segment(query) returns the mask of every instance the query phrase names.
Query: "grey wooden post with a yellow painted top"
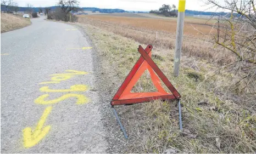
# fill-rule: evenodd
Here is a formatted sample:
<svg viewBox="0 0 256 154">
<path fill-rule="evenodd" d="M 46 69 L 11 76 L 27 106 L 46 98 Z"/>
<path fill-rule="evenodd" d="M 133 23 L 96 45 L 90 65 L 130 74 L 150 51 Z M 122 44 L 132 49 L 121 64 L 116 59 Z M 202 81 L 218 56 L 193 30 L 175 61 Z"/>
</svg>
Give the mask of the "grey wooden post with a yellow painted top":
<svg viewBox="0 0 256 154">
<path fill-rule="evenodd" d="M 180 56 L 182 48 L 182 37 L 183 37 L 183 27 L 184 27 L 184 18 L 185 18 L 185 4 L 186 0 L 179 1 L 178 9 L 178 19 L 177 19 L 177 31 L 176 31 L 176 45 L 175 45 L 175 54 L 174 54 L 174 76 L 179 76 L 180 68 Z"/>
</svg>

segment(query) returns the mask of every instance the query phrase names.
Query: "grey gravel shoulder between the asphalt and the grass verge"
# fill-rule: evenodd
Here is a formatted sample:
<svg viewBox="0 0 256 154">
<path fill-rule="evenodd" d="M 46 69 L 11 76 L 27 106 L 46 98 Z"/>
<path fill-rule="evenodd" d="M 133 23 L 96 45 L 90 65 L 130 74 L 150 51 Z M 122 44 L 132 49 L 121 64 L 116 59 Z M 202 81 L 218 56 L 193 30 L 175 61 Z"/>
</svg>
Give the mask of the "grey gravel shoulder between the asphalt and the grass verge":
<svg viewBox="0 0 256 154">
<path fill-rule="evenodd" d="M 127 151 L 127 144 L 129 144 L 130 141 L 129 139 L 125 139 L 124 134 L 115 119 L 113 107 L 110 105 L 110 101 L 115 94 L 114 90 L 120 86 L 120 78 L 116 76 L 114 69 L 110 69 L 108 61 L 104 59 L 102 53 L 99 52 L 100 49 L 97 47 L 97 44 L 94 44 L 91 41 L 88 36 L 88 29 L 79 24 L 75 25 L 82 31 L 82 33 L 84 33 L 84 37 L 86 37 L 93 47 L 93 72 L 95 74 L 94 82 L 96 83 L 96 87 L 94 87 L 93 90 L 98 92 L 99 102 L 101 103 L 99 110 L 102 114 L 102 123 L 105 129 L 104 138 L 109 145 L 107 153 L 124 153 Z M 119 111 L 118 109 L 116 110 Z"/>
</svg>

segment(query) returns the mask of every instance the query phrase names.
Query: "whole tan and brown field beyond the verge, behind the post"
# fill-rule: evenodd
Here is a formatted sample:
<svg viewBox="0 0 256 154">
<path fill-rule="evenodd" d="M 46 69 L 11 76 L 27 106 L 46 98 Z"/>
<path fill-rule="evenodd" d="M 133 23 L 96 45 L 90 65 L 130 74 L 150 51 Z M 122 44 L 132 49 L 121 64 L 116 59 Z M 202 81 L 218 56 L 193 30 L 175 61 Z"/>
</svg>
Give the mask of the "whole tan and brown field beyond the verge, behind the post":
<svg viewBox="0 0 256 154">
<path fill-rule="evenodd" d="M 175 33 L 161 30 L 162 28 L 166 28 L 167 30 L 168 26 L 165 27 L 165 26 L 162 26 L 161 24 L 155 24 L 154 27 L 159 28 L 160 30 L 158 31 L 158 38 L 156 38 L 156 31 L 152 30 L 153 28 L 151 28 L 151 24 L 148 24 L 148 22 L 154 22 L 154 21 L 159 21 L 160 23 L 167 22 L 169 24 L 172 24 L 172 28 L 169 27 L 169 31 L 176 32 L 176 24 L 172 23 L 172 22 L 176 23 L 176 21 L 164 20 L 164 19 L 150 19 L 150 18 L 141 18 L 141 19 L 127 18 L 127 17 L 119 17 L 119 16 L 117 17 L 112 16 L 111 18 L 106 18 L 105 16 L 101 20 L 99 20 L 98 18 L 102 18 L 102 16 L 97 17 L 95 15 L 95 16 L 87 17 L 85 15 L 82 15 L 82 16 L 79 16 L 78 21 L 81 24 L 90 24 L 90 25 L 102 28 L 104 30 L 114 32 L 118 35 L 121 35 L 127 38 L 132 38 L 135 41 L 143 44 L 152 44 L 154 45 L 154 47 L 166 48 L 166 49 L 175 48 Z M 121 20 L 120 18 L 123 20 Z M 121 20 L 119 22 L 122 22 L 122 24 L 119 24 L 118 19 Z M 112 20 L 113 22 L 110 22 Z M 140 22 L 137 22 L 137 21 L 140 21 Z M 197 20 L 195 20 L 194 22 L 196 21 Z M 131 24 L 129 24 L 129 22 L 131 22 Z M 156 23 L 159 23 L 159 22 L 156 22 Z M 201 22 L 201 20 L 198 20 L 198 22 Z M 132 25 L 137 25 L 137 26 L 132 26 Z M 148 28 L 143 27 L 143 25 L 147 25 Z M 190 25 L 190 26 L 187 26 L 190 32 L 185 33 L 185 36 L 183 37 L 183 47 L 182 47 L 183 55 L 207 59 L 210 62 L 217 62 L 220 65 L 229 64 L 231 61 L 234 60 L 234 57 L 230 55 L 229 52 L 218 50 L 216 48 L 213 49 L 212 44 L 205 42 L 205 40 L 209 39 L 209 35 L 202 35 L 197 30 L 194 30 L 193 27 L 195 26 L 192 27 L 191 24 L 188 24 L 188 25 Z M 199 24 L 198 26 L 205 28 L 205 32 L 212 30 L 210 26 L 205 26 L 202 24 Z"/>
</svg>

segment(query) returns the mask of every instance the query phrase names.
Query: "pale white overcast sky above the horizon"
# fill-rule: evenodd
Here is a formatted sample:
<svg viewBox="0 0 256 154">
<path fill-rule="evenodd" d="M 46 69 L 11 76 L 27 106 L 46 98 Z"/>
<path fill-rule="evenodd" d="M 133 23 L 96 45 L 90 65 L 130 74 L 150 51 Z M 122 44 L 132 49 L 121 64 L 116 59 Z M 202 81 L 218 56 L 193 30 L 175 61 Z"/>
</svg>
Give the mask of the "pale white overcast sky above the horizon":
<svg viewBox="0 0 256 154">
<path fill-rule="evenodd" d="M 18 2 L 19 6 L 25 7 L 27 3 L 34 7 L 49 7 L 55 5 L 58 0 L 13 0 Z M 187 0 L 186 9 L 204 11 L 207 6 L 204 6 L 204 0 Z M 220 0 L 221 1 L 221 0 Z M 159 9 L 162 4 L 176 5 L 179 0 L 80 0 L 80 7 L 96 7 L 105 9 L 124 9 L 135 11 L 149 11 Z M 208 10 L 208 11 L 214 11 Z"/>
</svg>

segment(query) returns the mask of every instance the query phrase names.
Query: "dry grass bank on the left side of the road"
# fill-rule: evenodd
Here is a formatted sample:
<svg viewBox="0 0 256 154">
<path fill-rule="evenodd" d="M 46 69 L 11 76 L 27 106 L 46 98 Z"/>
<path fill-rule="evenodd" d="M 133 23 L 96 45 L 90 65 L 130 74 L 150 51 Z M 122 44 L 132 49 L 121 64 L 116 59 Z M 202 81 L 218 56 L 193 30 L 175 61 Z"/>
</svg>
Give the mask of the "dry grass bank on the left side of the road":
<svg viewBox="0 0 256 154">
<path fill-rule="evenodd" d="M 25 19 L 21 15 L 1 13 L 1 33 L 16 30 L 30 24 L 30 19 Z"/>
</svg>

